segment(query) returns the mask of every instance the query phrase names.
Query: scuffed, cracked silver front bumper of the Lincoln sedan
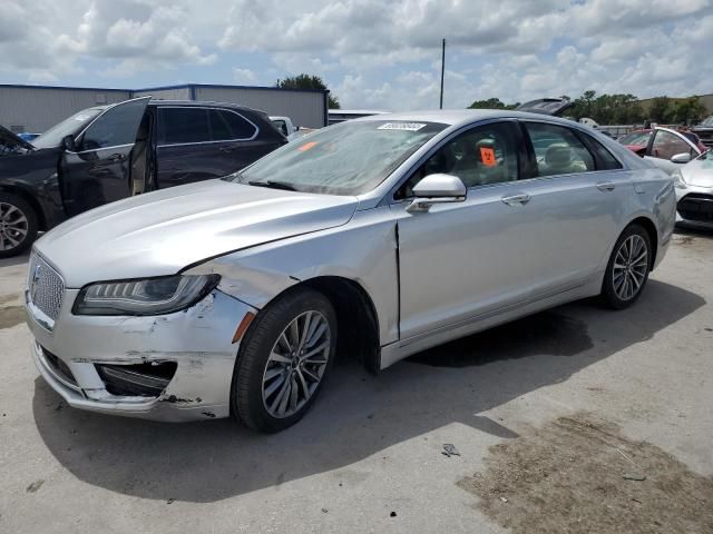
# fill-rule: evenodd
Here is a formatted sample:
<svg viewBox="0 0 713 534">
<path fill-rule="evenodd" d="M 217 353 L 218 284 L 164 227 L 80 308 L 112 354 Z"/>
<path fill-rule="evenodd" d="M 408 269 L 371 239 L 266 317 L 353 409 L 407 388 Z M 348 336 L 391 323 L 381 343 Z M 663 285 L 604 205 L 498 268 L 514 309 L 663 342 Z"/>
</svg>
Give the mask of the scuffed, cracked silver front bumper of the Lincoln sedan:
<svg viewBox="0 0 713 534">
<path fill-rule="evenodd" d="M 256 310 L 215 289 L 195 306 L 154 317 L 71 314 L 79 291 L 67 289 L 50 332 L 32 306 L 32 358 L 45 380 L 76 408 L 156 421 L 192 421 L 229 415 L 238 344 L 235 329 Z M 150 366 L 172 369 L 164 389 L 149 395 L 110 392 L 101 372 Z M 139 376 L 140 378 L 140 376 Z"/>
</svg>

